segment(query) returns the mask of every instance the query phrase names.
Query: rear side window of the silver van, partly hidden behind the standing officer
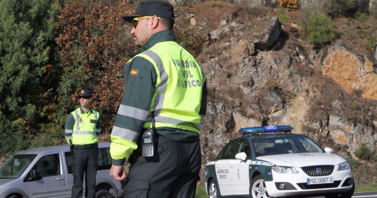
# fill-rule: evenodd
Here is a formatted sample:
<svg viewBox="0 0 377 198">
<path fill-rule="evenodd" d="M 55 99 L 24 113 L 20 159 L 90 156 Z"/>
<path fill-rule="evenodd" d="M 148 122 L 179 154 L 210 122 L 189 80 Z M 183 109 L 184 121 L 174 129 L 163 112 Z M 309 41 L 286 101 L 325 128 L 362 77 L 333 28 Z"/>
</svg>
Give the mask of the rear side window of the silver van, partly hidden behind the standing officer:
<svg viewBox="0 0 377 198">
<path fill-rule="evenodd" d="M 65 152 L 67 161 L 67 170 L 69 174 L 72 174 L 72 157 L 69 152 Z M 110 148 L 98 148 L 98 167 L 97 171 L 106 170 L 111 168 L 111 156 Z"/>
</svg>

